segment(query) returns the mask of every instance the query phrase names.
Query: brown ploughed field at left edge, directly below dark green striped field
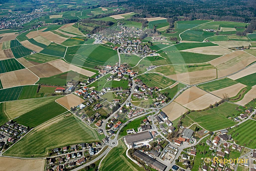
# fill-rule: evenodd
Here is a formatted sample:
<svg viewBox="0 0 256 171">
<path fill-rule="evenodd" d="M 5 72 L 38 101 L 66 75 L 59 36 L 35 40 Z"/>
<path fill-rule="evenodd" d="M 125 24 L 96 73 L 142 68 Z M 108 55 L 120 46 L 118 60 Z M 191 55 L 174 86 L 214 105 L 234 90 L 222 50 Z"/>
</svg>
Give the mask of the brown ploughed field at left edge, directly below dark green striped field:
<svg viewBox="0 0 256 171">
<path fill-rule="evenodd" d="M 0 74 L 0 79 L 3 88 L 29 85 L 34 84 L 38 81 L 38 77 L 35 76 L 35 74 L 33 74 L 28 69 L 21 69 L 13 72 Z"/>
</svg>

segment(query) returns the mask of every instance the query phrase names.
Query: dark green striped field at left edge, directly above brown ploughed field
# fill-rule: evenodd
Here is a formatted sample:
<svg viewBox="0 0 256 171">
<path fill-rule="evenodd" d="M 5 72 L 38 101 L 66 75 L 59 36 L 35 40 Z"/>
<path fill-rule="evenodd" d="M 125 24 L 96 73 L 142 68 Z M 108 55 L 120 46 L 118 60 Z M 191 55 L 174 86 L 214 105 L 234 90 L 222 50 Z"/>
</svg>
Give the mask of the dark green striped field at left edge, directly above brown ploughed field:
<svg viewBox="0 0 256 171">
<path fill-rule="evenodd" d="M 0 74 L 24 68 L 25 67 L 14 58 L 0 60 Z"/>
</svg>

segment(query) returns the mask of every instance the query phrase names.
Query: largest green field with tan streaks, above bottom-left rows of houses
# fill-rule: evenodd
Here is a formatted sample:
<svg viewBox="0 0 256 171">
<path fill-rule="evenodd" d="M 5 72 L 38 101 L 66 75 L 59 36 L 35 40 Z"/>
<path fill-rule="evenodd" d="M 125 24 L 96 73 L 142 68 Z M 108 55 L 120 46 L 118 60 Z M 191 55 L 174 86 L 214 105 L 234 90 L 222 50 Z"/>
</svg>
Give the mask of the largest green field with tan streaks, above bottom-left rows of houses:
<svg viewBox="0 0 256 171">
<path fill-rule="evenodd" d="M 4 155 L 43 157 L 47 156 L 49 149 L 99 140 L 96 132 L 80 119 L 73 115 L 68 117 L 65 115 L 51 119 L 33 129 L 8 149 Z"/>
</svg>

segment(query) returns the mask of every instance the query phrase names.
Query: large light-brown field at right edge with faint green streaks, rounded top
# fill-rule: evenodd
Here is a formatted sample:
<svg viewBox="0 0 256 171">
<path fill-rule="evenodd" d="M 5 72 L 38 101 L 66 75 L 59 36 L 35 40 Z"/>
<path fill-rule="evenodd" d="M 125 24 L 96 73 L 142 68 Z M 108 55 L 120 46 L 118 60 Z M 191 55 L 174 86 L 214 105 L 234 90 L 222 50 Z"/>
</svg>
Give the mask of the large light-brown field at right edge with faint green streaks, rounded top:
<svg viewBox="0 0 256 171">
<path fill-rule="evenodd" d="M 232 74 L 255 61 L 255 57 L 244 52 L 234 51 L 209 62 L 217 68 L 218 78 Z"/>
</svg>

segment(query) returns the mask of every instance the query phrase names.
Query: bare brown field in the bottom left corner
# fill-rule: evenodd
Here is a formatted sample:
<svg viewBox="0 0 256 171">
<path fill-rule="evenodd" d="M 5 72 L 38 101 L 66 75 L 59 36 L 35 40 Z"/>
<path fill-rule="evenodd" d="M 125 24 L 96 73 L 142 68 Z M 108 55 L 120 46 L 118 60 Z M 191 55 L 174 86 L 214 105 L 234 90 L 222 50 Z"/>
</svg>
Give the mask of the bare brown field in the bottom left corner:
<svg viewBox="0 0 256 171">
<path fill-rule="evenodd" d="M 1 163 L 1 170 L 44 171 L 45 160 L 0 157 L 0 163 Z"/>
</svg>

